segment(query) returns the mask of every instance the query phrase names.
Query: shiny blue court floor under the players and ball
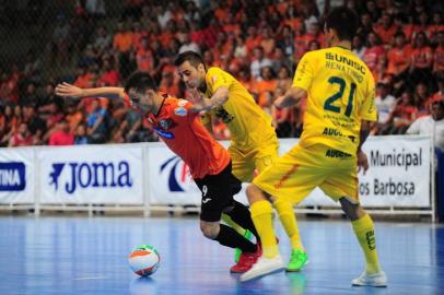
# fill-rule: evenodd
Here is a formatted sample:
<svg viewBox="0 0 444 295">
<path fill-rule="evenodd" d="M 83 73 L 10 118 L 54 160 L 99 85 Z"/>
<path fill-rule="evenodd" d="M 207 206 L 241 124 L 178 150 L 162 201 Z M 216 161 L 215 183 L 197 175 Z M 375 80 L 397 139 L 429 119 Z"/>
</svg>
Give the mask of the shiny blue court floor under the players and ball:
<svg viewBox="0 0 444 295">
<path fill-rule="evenodd" d="M 192 217 L 0 216 L 0 294 L 444 294 L 444 227 L 376 222 L 387 288 L 352 287 L 363 256 L 350 223 L 300 221 L 311 259 L 301 273 L 241 283 L 233 251 L 201 236 Z M 281 227 L 280 248 L 289 241 Z M 131 273 L 139 244 L 161 255 L 152 278 Z"/>
</svg>

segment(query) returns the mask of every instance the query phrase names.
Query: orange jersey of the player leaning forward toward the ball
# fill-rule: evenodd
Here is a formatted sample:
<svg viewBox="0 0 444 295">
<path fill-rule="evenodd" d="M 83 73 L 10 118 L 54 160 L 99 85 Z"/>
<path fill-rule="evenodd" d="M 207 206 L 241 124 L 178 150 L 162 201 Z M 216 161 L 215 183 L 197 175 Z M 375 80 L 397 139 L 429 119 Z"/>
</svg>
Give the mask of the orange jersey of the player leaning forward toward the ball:
<svg viewBox="0 0 444 295">
<path fill-rule="evenodd" d="M 199 114 L 190 111 L 192 104 L 167 95 L 159 114 L 144 119 L 152 130 L 185 164 L 195 179 L 217 175 L 229 165 L 229 152 L 217 142 L 200 122 Z M 126 96 L 126 103 L 129 103 Z"/>
</svg>

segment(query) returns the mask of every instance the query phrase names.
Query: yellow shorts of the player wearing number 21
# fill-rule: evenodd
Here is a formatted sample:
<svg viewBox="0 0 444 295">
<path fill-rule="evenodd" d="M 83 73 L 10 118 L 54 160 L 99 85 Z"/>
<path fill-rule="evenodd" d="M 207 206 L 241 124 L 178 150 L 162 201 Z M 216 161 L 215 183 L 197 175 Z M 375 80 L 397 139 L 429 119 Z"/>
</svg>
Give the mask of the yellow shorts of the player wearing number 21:
<svg viewBox="0 0 444 295">
<path fill-rule="evenodd" d="M 274 198 L 300 203 L 319 187 L 332 200 L 359 202 L 357 157 L 324 144 L 294 146 L 253 181 Z"/>
</svg>

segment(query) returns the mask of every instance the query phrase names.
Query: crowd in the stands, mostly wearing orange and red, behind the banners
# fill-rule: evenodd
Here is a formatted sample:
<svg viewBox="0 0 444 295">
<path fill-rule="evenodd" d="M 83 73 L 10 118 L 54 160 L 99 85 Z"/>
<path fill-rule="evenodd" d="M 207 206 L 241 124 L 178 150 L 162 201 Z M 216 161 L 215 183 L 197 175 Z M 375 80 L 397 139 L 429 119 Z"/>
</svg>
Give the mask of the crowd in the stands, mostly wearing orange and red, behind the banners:
<svg viewBox="0 0 444 295">
<path fill-rule="evenodd" d="M 301 57 L 327 46 L 326 13 L 347 5 L 360 15 L 353 52 L 376 81 L 378 121 L 373 134 L 402 134 L 428 116 L 444 91 L 444 25 L 441 1 L 427 0 L 126 0 L 114 26 L 105 1 L 75 1 L 73 16 L 57 19 L 48 50 L 54 67 L 75 64 L 72 75 L 44 78 L 42 59 L 0 70 L 2 146 L 155 141 L 139 114 L 106 98 L 62 99 L 61 81 L 80 87 L 117 86 L 135 70 L 148 71 L 160 90 L 186 97 L 173 66 L 194 50 L 208 66 L 237 78 L 270 114 L 280 138 L 299 137 L 304 102 L 276 109 L 273 99 L 292 84 Z M 75 52 L 75 54 L 73 54 Z M 72 60 L 75 57 L 75 60 Z M 215 137 L 227 139 L 222 122 Z"/>
</svg>

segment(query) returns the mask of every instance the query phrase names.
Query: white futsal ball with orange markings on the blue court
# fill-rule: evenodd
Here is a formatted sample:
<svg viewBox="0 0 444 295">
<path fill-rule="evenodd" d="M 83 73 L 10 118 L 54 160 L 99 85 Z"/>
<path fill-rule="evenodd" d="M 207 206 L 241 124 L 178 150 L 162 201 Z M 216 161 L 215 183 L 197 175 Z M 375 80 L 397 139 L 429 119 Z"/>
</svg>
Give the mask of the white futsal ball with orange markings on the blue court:
<svg viewBox="0 0 444 295">
<path fill-rule="evenodd" d="M 132 271 L 141 276 L 149 276 L 159 269 L 161 256 L 150 245 L 137 246 L 128 257 Z"/>
</svg>

